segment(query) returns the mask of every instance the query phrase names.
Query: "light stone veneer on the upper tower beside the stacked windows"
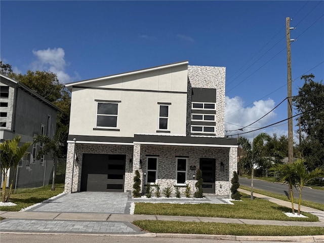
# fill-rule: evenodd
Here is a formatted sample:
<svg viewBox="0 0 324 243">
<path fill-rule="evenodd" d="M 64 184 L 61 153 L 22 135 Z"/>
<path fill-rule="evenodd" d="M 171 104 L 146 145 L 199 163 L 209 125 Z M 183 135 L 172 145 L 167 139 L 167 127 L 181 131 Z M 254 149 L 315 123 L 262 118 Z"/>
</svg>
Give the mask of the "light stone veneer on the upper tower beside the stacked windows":
<svg viewBox="0 0 324 243">
<path fill-rule="evenodd" d="M 188 66 L 192 88 L 216 89 L 216 137 L 225 137 L 225 67 Z M 188 98 L 191 99 L 191 91 Z M 190 101 L 191 103 L 191 101 Z"/>
</svg>

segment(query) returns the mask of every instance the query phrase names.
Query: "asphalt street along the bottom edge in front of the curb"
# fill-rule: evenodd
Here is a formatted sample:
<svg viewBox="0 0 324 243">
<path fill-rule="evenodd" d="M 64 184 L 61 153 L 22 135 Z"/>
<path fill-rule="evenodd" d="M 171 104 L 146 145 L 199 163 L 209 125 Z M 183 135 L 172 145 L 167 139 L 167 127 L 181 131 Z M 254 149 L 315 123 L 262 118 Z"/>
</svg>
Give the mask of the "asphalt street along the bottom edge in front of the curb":
<svg viewBox="0 0 324 243">
<path fill-rule="evenodd" d="M 226 237 L 226 236 L 224 236 Z M 294 237 L 294 236 L 292 236 Z M 195 235 L 192 237 L 138 237 L 133 235 L 126 236 L 108 236 L 108 235 L 78 235 L 78 234 L 16 234 L 16 233 L 1 233 L 0 234 L 1 243 L 38 243 L 38 242 L 46 242 L 46 243 L 88 243 L 88 242 L 96 242 L 96 243 L 143 243 L 146 242 L 156 242 L 156 243 L 256 243 L 260 242 L 260 240 L 256 241 L 245 241 L 245 240 L 221 240 L 221 239 L 208 239 L 208 238 L 197 238 Z M 293 240 L 293 239 L 292 239 Z M 278 241 L 264 241 L 262 243 L 272 243 Z M 285 241 L 285 242 L 296 242 L 296 241 Z"/>
</svg>

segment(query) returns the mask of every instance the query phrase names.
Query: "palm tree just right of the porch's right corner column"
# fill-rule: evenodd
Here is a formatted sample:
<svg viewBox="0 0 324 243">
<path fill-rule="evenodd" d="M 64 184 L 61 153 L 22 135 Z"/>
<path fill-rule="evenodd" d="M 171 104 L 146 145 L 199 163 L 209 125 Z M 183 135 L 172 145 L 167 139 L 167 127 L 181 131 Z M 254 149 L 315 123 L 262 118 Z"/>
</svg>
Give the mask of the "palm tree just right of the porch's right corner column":
<svg viewBox="0 0 324 243">
<path fill-rule="evenodd" d="M 238 144 L 244 150 L 243 155 L 239 158 L 239 164 L 245 165 L 245 167 L 251 171 L 251 200 L 253 200 L 253 176 L 254 166 L 262 165 L 266 162 L 267 158 L 263 156 L 264 141 L 271 139 L 267 133 L 260 133 L 253 139 L 253 143 L 245 137 L 238 138 Z"/>
</svg>

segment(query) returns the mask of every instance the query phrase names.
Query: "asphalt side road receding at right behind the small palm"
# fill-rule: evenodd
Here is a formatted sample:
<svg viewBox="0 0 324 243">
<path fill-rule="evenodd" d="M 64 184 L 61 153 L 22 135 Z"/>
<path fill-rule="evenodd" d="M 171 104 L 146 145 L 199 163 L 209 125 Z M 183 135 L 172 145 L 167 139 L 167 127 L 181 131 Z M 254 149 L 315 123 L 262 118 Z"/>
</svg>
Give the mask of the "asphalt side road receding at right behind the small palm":
<svg viewBox="0 0 324 243">
<path fill-rule="evenodd" d="M 251 187 L 251 179 L 239 178 L 239 184 L 242 186 Z M 253 180 L 253 188 L 270 191 L 281 195 L 288 195 L 288 185 L 281 183 Z M 298 197 L 298 195 L 299 191 L 294 188 L 294 197 Z M 324 204 L 324 190 L 304 187 L 302 190 L 302 199 L 313 201 L 314 203 Z M 296 201 L 295 203 L 298 203 L 298 201 Z"/>
</svg>

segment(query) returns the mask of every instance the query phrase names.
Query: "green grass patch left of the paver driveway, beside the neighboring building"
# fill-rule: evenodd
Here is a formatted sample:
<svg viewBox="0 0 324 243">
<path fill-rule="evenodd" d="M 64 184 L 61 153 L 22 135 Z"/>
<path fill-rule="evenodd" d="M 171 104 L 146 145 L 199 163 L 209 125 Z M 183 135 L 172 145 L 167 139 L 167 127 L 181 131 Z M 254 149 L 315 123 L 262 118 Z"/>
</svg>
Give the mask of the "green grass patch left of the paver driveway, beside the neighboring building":
<svg viewBox="0 0 324 243">
<path fill-rule="evenodd" d="M 21 188 L 17 189 L 17 193 L 10 196 L 11 203 L 16 206 L 1 207 L 1 211 L 20 211 L 28 206 L 41 203 L 52 196 L 60 194 L 64 190 L 64 184 L 55 184 L 55 191 L 51 190 L 52 185 L 37 188 Z"/>
</svg>

